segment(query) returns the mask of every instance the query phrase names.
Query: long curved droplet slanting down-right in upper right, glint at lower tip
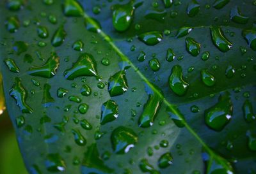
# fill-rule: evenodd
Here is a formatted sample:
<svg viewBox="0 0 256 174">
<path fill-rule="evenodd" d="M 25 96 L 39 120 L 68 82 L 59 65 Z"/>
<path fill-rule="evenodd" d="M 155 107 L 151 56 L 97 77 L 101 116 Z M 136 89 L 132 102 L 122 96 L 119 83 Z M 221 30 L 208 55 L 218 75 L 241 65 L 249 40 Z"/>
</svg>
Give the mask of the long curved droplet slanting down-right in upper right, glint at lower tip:
<svg viewBox="0 0 256 174">
<path fill-rule="evenodd" d="M 211 27 L 211 37 L 212 42 L 221 52 L 227 52 L 232 48 L 232 43 L 227 40 L 220 27 Z"/>
</svg>

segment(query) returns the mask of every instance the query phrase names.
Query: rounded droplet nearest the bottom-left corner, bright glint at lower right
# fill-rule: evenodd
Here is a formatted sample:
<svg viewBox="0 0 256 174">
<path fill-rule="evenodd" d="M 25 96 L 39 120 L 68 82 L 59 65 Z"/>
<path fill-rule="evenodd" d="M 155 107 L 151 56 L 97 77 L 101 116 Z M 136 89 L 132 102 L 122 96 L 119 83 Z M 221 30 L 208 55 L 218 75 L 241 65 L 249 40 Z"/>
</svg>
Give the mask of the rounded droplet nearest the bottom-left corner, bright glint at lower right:
<svg viewBox="0 0 256 174">
<path fill-rule="evenodd" d="M 48 154 L 47 160 L 45 161 L 45 166 L 48 171 L 54 173 L 65 171 L 66 169 L 65 161 L 60 154 Z"/>
</svg>

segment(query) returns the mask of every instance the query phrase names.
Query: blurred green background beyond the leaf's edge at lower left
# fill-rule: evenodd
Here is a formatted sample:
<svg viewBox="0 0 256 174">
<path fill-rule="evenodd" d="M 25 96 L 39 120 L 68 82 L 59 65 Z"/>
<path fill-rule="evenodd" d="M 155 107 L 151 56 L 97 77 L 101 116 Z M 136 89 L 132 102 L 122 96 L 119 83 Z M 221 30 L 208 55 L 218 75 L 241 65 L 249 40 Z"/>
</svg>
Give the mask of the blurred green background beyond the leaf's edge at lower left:
<svg viewBox="0 0 256 174">
<path fill-rule="evenodd" d="M 28 174 L 10 117 L 5 110 L 2 77 L 0 75 L 0 174 Z"/>
</svg>

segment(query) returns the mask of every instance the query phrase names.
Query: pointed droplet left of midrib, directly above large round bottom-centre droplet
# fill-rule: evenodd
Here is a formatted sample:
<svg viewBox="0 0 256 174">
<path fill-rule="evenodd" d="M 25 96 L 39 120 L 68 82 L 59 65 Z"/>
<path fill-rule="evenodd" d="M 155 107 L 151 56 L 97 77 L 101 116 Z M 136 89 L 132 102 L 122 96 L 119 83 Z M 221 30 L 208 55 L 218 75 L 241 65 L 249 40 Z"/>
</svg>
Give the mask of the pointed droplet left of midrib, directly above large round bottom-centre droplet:
<svg viewBox="0 0 256 174">
<path fill-rule="evenodd" d="M 113 100 L 108 100 L 101 106 L 100 124 L 112 122 L 118 117 L 118 105 Z"/>
</svg>

